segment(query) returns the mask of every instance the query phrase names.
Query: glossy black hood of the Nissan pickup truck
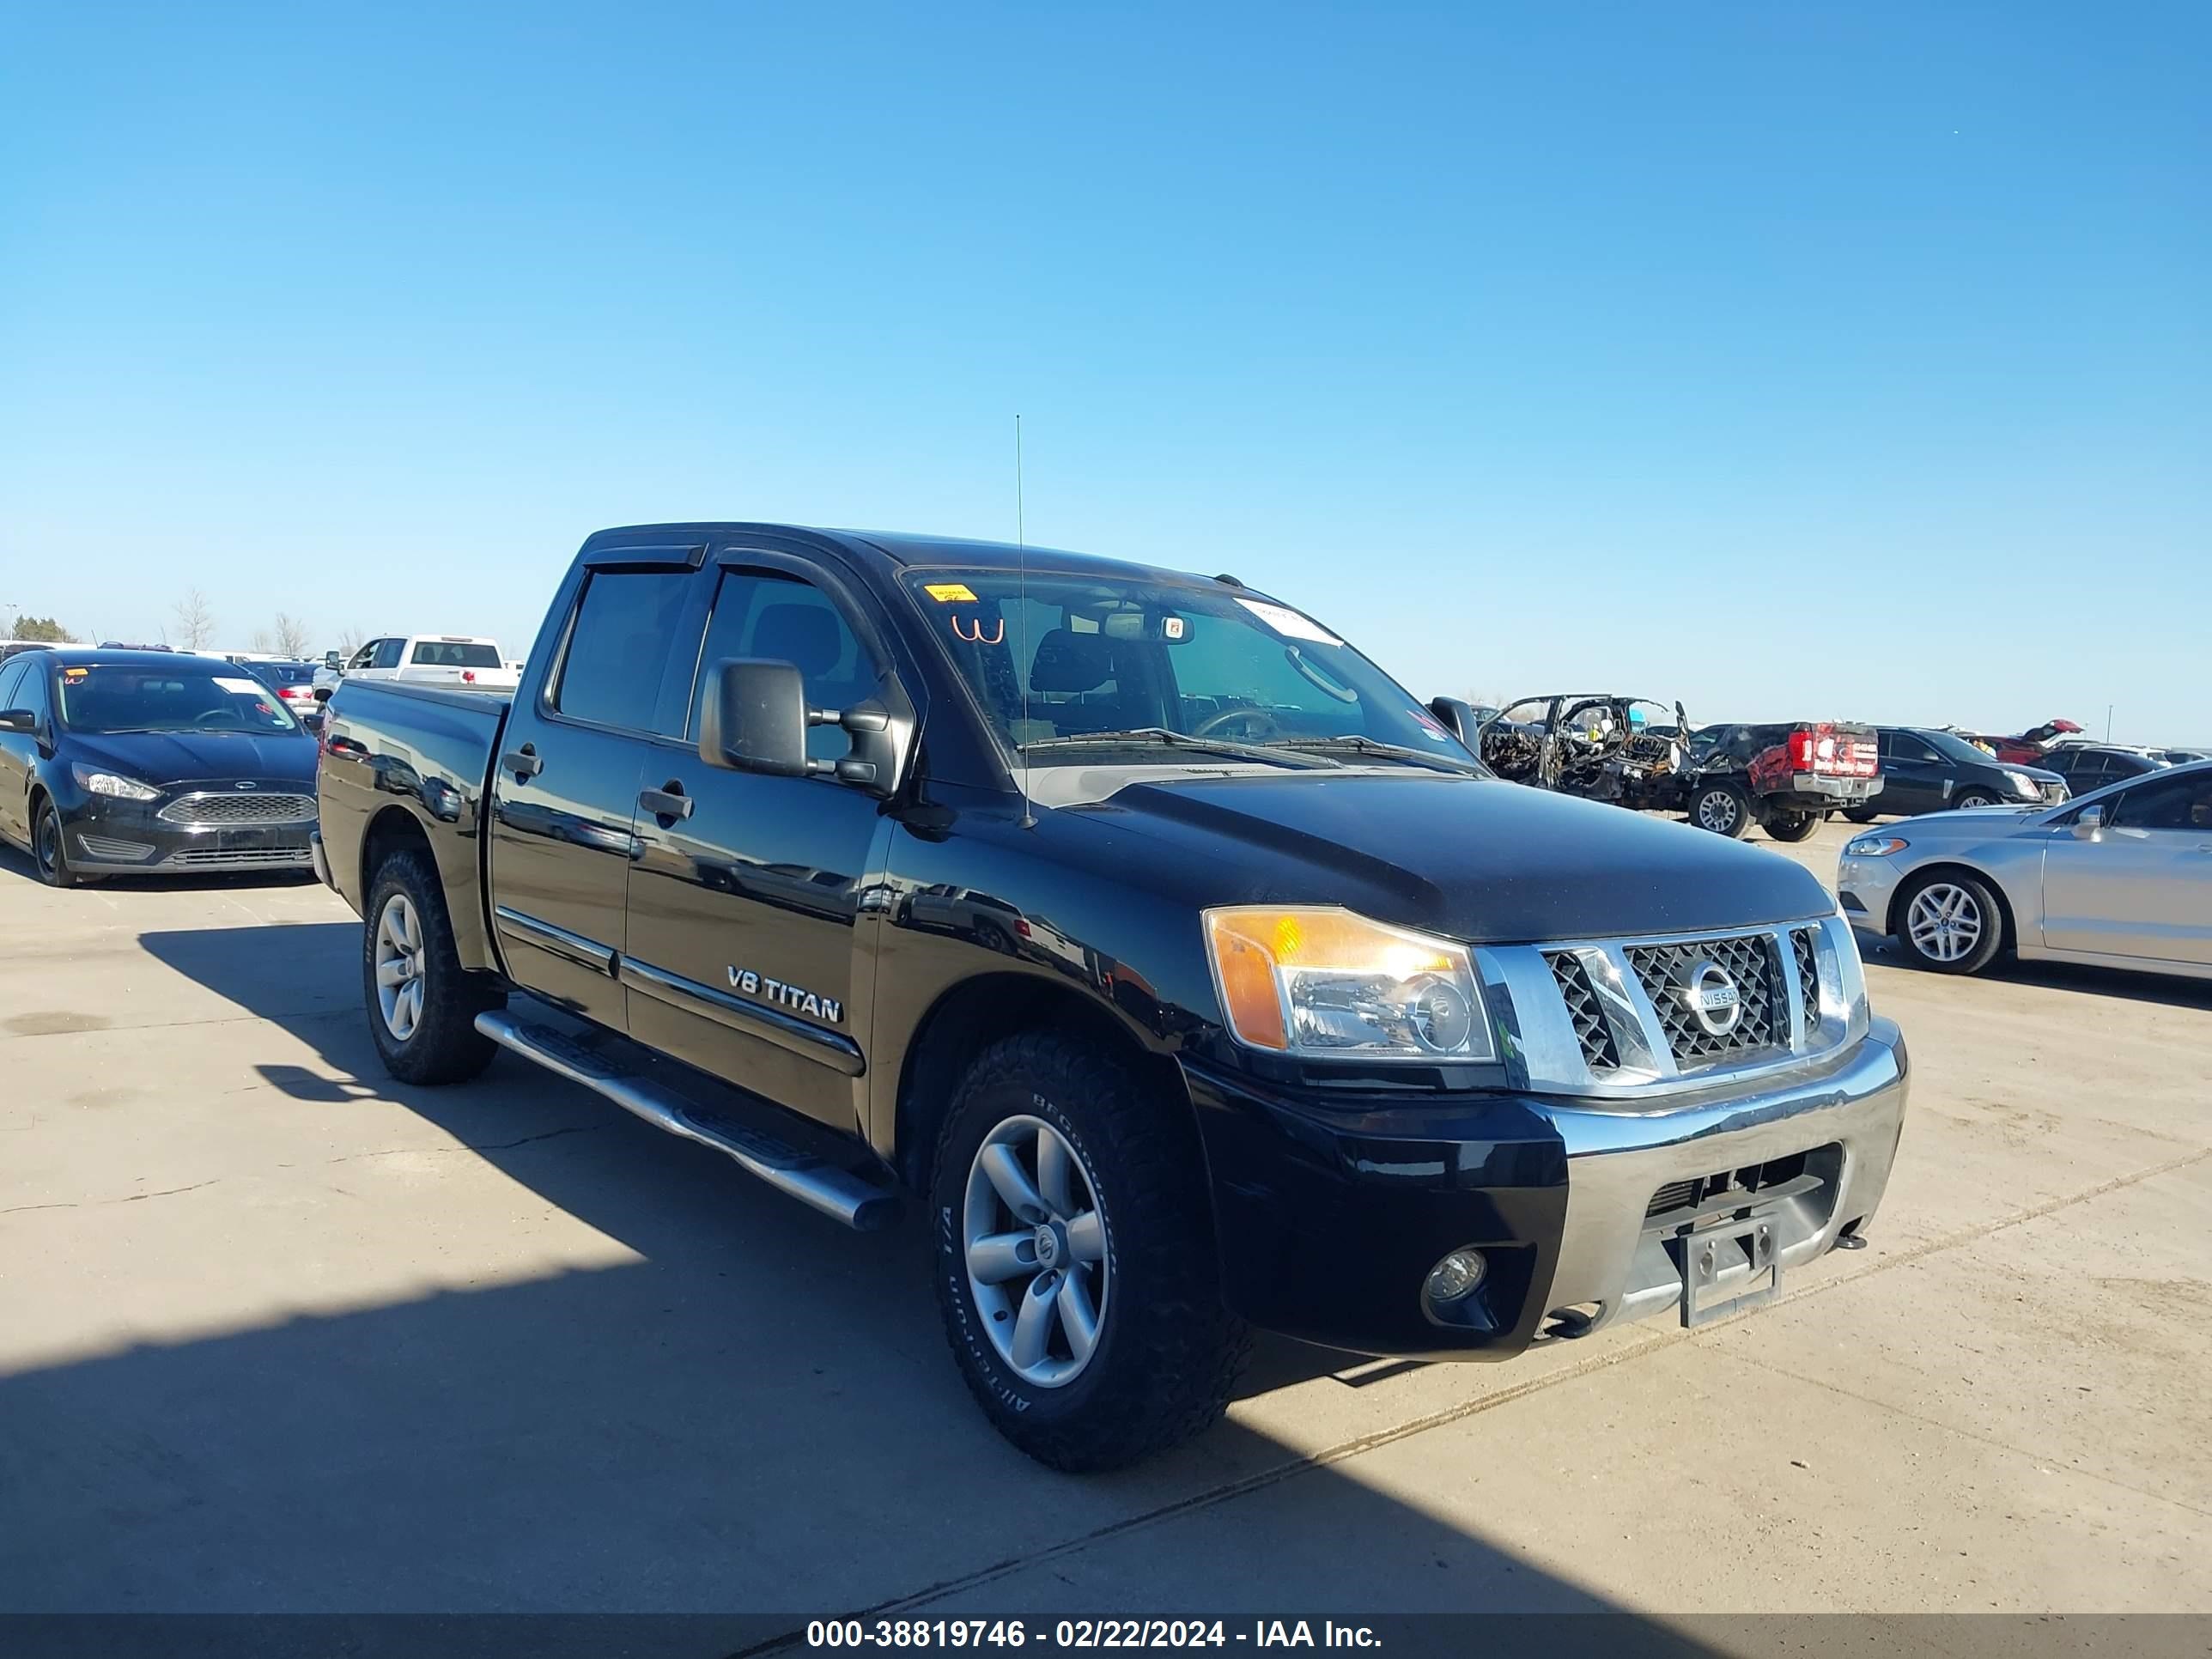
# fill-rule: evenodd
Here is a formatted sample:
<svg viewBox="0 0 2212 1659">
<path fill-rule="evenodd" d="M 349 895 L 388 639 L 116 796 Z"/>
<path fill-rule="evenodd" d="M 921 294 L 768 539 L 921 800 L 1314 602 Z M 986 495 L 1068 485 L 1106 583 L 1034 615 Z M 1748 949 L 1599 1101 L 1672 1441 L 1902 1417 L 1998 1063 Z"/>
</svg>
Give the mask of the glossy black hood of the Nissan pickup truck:
<svg viewBox="0 0 2212 1659">
<path fill-rule="evenodd" d="M 1805 867 L 1736 841 L 1491 779 L 1265 772 L 1148 779 L 1082 810 L 1230 872 L 1206 902 L 1345 905 L 1473 945 L 1690 933 L 1832 916 Z"/>
</svg>

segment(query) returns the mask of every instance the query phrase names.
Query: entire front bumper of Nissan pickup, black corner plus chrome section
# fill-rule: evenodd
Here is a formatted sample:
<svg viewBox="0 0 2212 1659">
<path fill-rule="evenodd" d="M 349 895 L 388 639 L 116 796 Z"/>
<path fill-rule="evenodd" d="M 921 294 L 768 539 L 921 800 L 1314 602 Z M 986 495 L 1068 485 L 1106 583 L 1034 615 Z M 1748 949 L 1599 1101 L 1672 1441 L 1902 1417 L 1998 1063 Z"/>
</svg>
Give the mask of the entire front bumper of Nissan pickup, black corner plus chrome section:
<svg viewBox="0 0 2212 1659">
<path fill-rule="evenodd" d="M 1646 1113 L 1509 1091 L 1345 1099 L 1183 1071 L 1230 1305 L 1287 1336 L 1407 1358 L 1513 1358 L 1559 1310 L 1597 1327 L 1756 1305 L 1741 1292 L 1874 1217 L 1907 1097 L 1887 1020 L 1823 1068 Z M 1652 1214 L 1663 1190 L 1747 1170 L 1794 1179 Z M 1703 1245 L 1714 1261 L 1692 1283 Z M 1429 1267 L 1462 1248 L 1484 1254 L 1480 1290 L 1431 1307 Z"/>
</svg>

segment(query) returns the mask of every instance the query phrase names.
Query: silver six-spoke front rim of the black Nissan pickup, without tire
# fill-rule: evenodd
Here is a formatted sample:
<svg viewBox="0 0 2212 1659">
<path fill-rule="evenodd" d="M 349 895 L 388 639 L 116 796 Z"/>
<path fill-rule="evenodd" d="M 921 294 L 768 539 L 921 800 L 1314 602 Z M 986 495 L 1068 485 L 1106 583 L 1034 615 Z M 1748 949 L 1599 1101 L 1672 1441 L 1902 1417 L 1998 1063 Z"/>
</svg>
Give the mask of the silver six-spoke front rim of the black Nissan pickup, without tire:
<svg viewBox="0 0 2212 1659">
<path fill-rule="evenodd" d="M 1057 1389 L 1097 1352 L 1113 1290 L 1091 1170 L 1042 1117 L 1009 1117 L 975 1148 L 962 1214 L 969 1294 L 1018 1378 Z"/>
</svg>

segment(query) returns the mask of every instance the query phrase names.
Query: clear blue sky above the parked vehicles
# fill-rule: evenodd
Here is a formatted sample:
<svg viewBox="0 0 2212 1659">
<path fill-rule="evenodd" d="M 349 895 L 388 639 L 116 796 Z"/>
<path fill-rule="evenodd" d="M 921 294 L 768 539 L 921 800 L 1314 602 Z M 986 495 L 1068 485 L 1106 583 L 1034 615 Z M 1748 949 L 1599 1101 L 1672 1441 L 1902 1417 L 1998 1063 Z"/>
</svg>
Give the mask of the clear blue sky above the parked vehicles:
<svg viewBox="0 0 2212 1659">
<path fill-rule="evenodd" d="M 1230 568 L 1422 695 L 2212 734 L 2201 4 L 18 9 L 0 619 L 653 518 Z"/>
</svg>

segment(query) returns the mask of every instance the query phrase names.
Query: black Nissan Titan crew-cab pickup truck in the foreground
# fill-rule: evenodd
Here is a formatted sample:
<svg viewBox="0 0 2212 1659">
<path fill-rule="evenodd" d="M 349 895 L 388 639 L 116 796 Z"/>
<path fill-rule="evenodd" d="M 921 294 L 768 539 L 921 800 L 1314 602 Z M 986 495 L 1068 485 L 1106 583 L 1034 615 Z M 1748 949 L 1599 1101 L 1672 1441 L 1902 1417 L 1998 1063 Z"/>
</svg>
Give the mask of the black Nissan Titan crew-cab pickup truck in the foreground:
<svg viewBox="0 0 2212 1659">
<path fill-rule="evenodd" d="M 1062 1469 L 1252 1325 L 1511 1358 L 1858 1245 L 1905 1044 L 1798 865 L 1495 781 L 1232 577 L 593 535 L 513 697 L 345 681 L 316 860 L 396 1077 L 504 1046 L 854 1225 Z"/>
</svg>

